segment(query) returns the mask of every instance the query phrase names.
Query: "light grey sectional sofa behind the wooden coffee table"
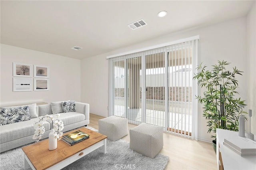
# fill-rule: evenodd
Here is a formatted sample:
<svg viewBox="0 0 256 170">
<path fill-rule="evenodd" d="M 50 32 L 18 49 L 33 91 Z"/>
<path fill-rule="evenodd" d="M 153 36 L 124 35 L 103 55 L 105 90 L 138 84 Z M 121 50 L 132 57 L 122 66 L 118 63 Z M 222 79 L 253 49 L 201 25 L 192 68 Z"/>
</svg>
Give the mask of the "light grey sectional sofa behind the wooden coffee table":
<svg viewBox="0 0 256 170">
<path fill-rule="evenodd" d="M 61 106 L 61 102 L 54 103 Z M 66 132 L 74 128 L 88 125 L 90 123 L 89 107 L 90 106 L 87 103 L 75 102 L 76 111 L 60 113 L 59 119 L 61 119 L 64 124 L 64 129 L 62 130 L 62 132 Z M 30 110 L 32 111 L 32 109 Z M 22 121 L 0 126 L 0 152 L 4 152 L 6 150 L 10 150 L 12 148 L 16 148 L 24 144 L 29 144 L 36 141 L 32 139 L 32 136 L 34 135 L 35 131 L 33 123 L 34 121 L 38 120 L 37 117 L 44 116 L 47 114 L 52 115 L 52 105 L 37 105 L 35 113 L 37 115 L 34 114 L 33 117 L 28 121 Z M 44 127 L 45 132 L 42 136 L 42 139 L 48 138 L 48 134 L 50 133 L 52 125 L 50 122 L 46 122 L 44 124 Z"/>
</svg>

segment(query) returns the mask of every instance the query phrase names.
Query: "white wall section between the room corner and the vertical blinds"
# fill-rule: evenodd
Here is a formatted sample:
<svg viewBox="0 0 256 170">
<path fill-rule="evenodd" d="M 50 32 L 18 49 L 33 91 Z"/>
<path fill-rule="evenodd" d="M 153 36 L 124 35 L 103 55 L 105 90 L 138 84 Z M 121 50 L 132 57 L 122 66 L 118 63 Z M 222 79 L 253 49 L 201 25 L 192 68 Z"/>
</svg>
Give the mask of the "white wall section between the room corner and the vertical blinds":
<svg viewBox="0 0 256 170">
<path fill-rule="evenodd" d="M 81 60 L 81 102 L 90 104 L 90 113 L 108 115 L 108 60 L 95 56 Z"/>
</svg>

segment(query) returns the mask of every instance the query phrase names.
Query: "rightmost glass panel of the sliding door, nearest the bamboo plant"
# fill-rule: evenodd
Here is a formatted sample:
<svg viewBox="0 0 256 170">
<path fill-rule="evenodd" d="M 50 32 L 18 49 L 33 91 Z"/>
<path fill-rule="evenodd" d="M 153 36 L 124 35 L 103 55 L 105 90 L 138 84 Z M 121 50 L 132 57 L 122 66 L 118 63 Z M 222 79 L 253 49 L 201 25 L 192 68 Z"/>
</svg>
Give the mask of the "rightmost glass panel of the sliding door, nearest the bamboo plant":
<svg viewBox="0 0 256 170">
<path fill-rule="evenodd" d="M 168 130 L 192 132 L 192 44 L 168 48 Z"/>
</svg>

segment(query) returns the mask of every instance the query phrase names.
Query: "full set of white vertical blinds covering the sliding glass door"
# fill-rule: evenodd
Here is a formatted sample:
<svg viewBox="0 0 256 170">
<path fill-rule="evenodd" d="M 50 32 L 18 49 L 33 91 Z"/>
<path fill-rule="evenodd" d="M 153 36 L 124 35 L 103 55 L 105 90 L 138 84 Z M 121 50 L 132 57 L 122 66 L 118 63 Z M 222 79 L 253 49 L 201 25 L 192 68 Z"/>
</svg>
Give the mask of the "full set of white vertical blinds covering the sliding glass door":
<svg viewBox="0 0 256 170">
<path fill-rule="evenodd" d="M 197 140 L 198 39 L 109 58 L 109 116 Z"/>
</svg>

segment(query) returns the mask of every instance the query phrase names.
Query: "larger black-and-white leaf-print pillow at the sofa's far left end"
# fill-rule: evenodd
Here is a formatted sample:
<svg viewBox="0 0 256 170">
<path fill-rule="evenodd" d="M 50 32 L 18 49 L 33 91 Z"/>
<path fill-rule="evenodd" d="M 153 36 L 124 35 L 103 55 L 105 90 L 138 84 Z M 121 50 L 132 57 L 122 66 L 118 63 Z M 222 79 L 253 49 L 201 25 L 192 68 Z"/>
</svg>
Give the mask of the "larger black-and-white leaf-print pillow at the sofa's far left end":
<svg viewBox="0 0 256 170">
<path fill-rule="evenodd" d="M 28 106 L 0 109 L 0 125 L 28 120 L 30 120 Z"/>
</svg>

